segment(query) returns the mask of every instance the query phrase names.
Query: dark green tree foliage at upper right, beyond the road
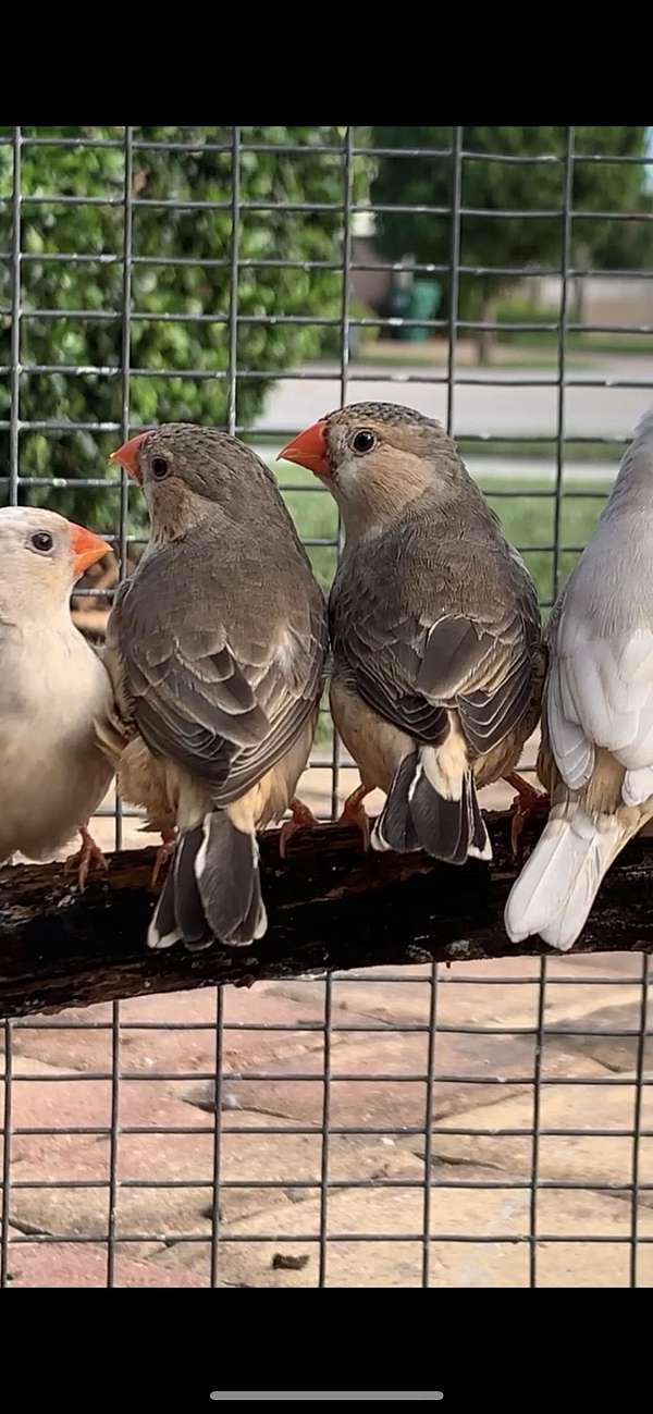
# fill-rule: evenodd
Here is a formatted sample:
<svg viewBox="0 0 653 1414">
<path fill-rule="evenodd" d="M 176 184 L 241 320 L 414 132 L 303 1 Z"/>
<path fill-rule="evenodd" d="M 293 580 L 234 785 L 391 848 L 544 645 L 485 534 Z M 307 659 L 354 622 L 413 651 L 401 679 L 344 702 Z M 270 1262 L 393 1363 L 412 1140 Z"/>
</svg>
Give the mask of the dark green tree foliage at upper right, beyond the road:
<svg viewBox="0 0 653 1414">
<path fill-rule="evenodd" d="M 375 127 L 377 147 L 433 147 L 448 150 L 451 127 Z M 646 127 L 577 127 L 572 206 L 580 212 L 650 211 L 646 168 L 637 163 L 589 163 L 584 154 L 642 157 Z M 563 158 L 563 127 L 465 127 L 469 153 L 506 157 Z M 451 157 L 383 157 L 373 182 L 373 201 L 382 205 L 451 206 Z M 563 161 L 462 163 L 462 206 L 478 211 L 560 212 L 564 198 Z M 572 222 L 571 263 L 587 267 L 636 267 L 650 239 L 646 222 L 580 219 Z M 465 216 L 461 226 L 461 263 L 468 266 L 560 267 L 563 223 L 558 215 L 543 218 Z M 430 214 L 383 214 L 379 243 L 393 260 L 411 255 L 418 262 L 447 263 L 451 221 Z M 650 263 L 646 260 L 646 263 Z M 459 314 L 489 318 L 496 296 L 510 283 L 500 276 L 462 276 Z"/>
</svg>

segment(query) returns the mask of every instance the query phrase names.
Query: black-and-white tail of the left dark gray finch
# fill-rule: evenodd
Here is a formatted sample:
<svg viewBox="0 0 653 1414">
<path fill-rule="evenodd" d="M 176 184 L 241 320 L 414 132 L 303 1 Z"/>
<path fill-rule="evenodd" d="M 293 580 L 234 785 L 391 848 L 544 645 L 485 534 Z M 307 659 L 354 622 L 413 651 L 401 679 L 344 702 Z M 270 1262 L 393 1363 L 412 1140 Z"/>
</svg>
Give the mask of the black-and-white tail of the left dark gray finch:
<svg viewBox="0 0 653 1414">
<path fill-rule="evenodd" d="M 266 928 L 256 834 L 236 829 L 226 810 L 211 810 L 180 839 L 147 943 L 247 947 Z"/>
</svg>

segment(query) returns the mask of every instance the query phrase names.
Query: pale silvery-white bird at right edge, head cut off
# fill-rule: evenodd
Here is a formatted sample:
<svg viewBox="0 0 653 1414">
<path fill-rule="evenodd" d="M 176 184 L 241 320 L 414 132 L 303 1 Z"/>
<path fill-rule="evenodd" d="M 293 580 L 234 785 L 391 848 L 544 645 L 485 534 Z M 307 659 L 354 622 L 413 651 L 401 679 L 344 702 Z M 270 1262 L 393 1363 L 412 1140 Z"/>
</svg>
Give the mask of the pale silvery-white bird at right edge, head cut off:
<svg viewBox="0 0 653 1414">
<path fill-rule="evenodd" d="M 653 409 L 548 625 L 537 771 L 551 813 L 506 905 L 520 942 L 567 952 L 653 817 Z"/>
</svg>

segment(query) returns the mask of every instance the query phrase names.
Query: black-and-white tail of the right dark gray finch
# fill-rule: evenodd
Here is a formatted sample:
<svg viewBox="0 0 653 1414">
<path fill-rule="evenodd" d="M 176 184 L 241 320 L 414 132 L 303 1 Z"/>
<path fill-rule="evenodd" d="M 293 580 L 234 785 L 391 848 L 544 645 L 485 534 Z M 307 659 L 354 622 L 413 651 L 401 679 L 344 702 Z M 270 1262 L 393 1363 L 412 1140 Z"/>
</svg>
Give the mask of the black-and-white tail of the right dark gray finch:
<svg viewBox="0 0 653 1414">
<path fill-rule="evenodd" d="M 442 759 L 444 758 L 444 759 Z M 492 846 L 466 761 L 447 761 L 444 747 L 404 756 L 376 822 L 375 850 L 425 850 L 448 864 L 490 860 Z"/>
</svg>

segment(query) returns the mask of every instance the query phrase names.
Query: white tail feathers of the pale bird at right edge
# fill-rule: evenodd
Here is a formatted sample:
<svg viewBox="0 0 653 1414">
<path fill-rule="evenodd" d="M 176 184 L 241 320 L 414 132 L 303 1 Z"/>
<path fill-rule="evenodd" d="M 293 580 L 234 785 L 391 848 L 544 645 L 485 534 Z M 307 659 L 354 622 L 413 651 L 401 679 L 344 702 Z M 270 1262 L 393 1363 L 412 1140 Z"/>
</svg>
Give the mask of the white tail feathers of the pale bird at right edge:
<svg viewBox="0 0 653 1414">
<path fill-rule="evenodd" d="M 629 833 L 618 816 L 592 819 L 580 805 L 554 806 L 506 904 L 510 940 L 539 933 L 551 947 L 568 952 Z"/>
</svg>

